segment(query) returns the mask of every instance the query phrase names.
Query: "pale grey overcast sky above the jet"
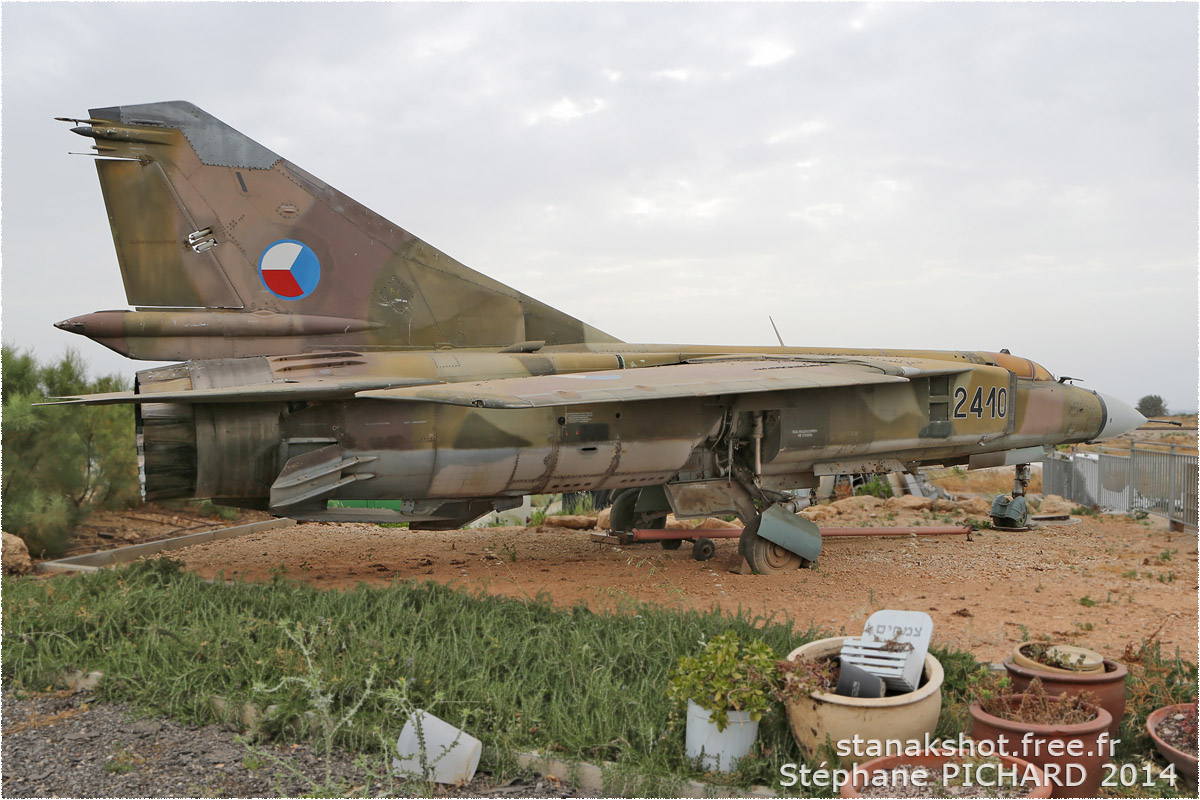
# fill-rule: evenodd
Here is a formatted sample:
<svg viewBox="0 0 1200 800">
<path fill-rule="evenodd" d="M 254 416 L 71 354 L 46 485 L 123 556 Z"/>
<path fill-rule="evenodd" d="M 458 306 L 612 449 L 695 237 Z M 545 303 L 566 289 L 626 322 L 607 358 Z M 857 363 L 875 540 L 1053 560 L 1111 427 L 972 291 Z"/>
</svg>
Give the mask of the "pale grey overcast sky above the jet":
<svg viewBox="0 0 1200 800">
<path fill-rule="evenodd" d="M 89 140 L 187 100 L 629 342 L 1009 348 L 1196 408 L 1195 4 L 5 4 L 2 335 L 125 308 Z"/>
</svg>

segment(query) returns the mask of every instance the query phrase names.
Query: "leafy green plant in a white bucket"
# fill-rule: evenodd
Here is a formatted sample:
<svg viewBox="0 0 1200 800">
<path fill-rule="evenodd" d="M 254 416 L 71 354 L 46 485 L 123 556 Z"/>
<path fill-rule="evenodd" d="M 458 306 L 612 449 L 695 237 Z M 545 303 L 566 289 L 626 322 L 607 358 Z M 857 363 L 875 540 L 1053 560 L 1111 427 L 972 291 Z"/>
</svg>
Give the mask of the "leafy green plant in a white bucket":
<svg viewBox="0 0 1200 800">
<path fill-rule="evenodd" d="M 727 772 L 758 736 L 770 710 L 775 654 L 766 642 L 743 643 L 727 631 L 671 672 L 667 697 L 688 706 L 686 752 L 704 769 Z"/>
</svg>

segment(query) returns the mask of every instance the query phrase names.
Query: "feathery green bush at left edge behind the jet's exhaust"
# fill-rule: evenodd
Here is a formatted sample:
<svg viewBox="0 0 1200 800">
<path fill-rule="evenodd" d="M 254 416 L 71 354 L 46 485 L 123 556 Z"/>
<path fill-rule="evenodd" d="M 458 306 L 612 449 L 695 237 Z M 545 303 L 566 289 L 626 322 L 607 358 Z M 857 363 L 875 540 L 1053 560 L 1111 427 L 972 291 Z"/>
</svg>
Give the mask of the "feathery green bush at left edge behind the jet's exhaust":
<svg viewBox="0 0 1200 800">
<path fill-rule="evenodd" d="M 139 499 L 133 410 L 126 405 L 34 408 L 50 397 L 125 389 L 108 375 L 88 380 L 77 353 L 42 366 L 29 351 L 2 351 L 2 524 L 34 554 L 66 548 L 94 509 Z"/>
</svg>

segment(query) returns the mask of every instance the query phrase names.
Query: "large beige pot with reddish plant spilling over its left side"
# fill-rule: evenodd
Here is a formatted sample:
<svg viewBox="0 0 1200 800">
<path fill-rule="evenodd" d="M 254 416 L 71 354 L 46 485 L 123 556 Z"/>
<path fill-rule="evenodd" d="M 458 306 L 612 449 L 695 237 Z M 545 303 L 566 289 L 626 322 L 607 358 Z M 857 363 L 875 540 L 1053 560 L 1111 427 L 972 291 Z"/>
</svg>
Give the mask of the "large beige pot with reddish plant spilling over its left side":
<svg viewBox="0 0 1200 800">
<path fill-rule="evenodd" d="M 913 692 L 886 697 L 835 694 L 838 654 L 845 638 L 835 636 L 800 645 L 787 656 L 791 666 L 780 664 L 784 676 L 779 696 L 804 756 L 847 765 L 882 753 L 888 741 L 916 741 L 924 747 L 942 712 L 942 664 L 926 654 L 920 685 Z M 854 736 L 859 741 L 857 750 L 850 745 Z"/>
</svg>

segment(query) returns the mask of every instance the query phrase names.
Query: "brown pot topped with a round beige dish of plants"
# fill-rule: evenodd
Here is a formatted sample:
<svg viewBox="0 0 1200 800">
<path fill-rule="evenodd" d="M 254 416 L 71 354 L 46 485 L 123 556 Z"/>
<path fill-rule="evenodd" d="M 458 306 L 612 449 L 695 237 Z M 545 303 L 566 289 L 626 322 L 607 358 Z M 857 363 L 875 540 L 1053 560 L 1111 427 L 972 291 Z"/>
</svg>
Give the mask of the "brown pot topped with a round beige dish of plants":
<svg viewBox="0 0 1200 800">
<path fill-rule="evenodd" d="M 1124 664 L 1084 648 L 1024 642 L 1004 660 L 1004 669 L 1013 681 L 1014 693 L 1026 691 L 1038 678 L 1046 694 L 1093 694 L 1100 708 L 1112 716 L 1109 735 L 1117 736 L 1124 717 L 1126 679 L 1129 676 Z"/>
</svg>

